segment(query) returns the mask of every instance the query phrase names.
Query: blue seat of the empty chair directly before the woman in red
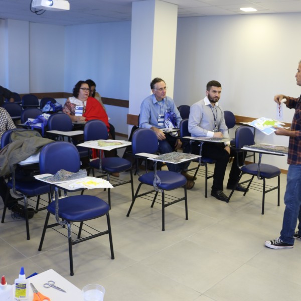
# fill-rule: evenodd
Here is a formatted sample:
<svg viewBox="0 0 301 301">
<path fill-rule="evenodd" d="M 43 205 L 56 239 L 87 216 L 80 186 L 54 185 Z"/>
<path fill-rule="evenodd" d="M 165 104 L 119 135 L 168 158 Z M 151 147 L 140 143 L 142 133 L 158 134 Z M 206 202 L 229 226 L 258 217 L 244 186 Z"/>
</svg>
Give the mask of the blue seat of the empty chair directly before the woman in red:
<svg viewBox="0 0 301 301">
<path fill-rule="evenodd" d="M 90 166 L 99 169 L 99 159 L 92 160 Z M 108 173 L 120 173 L 131 168 L 131 163 L 122 158 L 109 157 L 101 159 L 102 170 Z"/>
</svg>

